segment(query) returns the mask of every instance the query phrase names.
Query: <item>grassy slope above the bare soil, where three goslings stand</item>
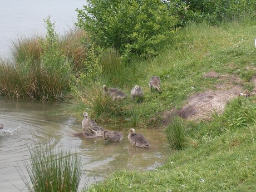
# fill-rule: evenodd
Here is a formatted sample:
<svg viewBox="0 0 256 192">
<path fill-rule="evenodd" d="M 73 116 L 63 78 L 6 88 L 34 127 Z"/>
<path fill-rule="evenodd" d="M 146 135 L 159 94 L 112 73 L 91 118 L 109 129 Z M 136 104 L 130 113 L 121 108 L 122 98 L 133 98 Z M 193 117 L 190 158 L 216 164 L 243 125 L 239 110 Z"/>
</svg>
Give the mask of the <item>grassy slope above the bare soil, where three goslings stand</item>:
<svg viewBox="0 0 256 192">
<path fill-rule="evenodd" d="M 184 105 L 188 96 L 195 92 L 215 88 L 221 81 L 231 79 L 204 78 L 204 73 L 215 71 L 219 75 L 235 75 L 244 81 L 244 89 L 252 90 L 250 79 L 255 74 L 255 48 L 253 46 L 255 22 L 223 22 L 219 26 L 207 23 L 190 24 L 176 34 L 175 42 L 163 48 L 160 56 L 148 60 L 133 60 L 129 66 L 119 60 L 111 60 L 110 69 L 122 67 L 124 74 L 103 75 L 96 82 L 87 82 L 86 87 L 78 90 L 76 112 L 87 109 L 98 121 L 131 119 L 131 125 L 154 127 L 150 119 L 166 109 Z M 101 63 L 101 61 L 99 61 Z M 120 64 L 121 63 L 121 64 Z M 101 65 L 101 64 L 100 64 Z M 122 66 L 123 65 L 123 66 Z M 161 78 L 162 93 L 150 91 L 148 82 L 151 76 Z M 111 81 L 113 80 L 113 81 Z M 129 97 L 114 105 L 105 102 L 102 85 L 121 88 Z M 144 102 L 136 105 L 130 99 L 130 90 L 140 85 L 144 90 Z M 97 97 L 93 102 L 92 97 Z M 101 107 L 95 107 L 101 106 Z M 119 111 L 117 113 L 116 111 Z M 156 124 L 156 125 L 155 125 Z"/>
</svg>

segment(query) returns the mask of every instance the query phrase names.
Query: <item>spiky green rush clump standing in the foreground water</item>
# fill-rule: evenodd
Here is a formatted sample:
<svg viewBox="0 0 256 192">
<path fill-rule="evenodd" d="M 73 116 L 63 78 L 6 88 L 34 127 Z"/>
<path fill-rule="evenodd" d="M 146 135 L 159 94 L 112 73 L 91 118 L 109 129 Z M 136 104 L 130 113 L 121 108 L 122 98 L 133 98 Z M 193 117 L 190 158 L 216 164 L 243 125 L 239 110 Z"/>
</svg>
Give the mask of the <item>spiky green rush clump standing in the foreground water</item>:
<svg viewBox="0 0 256 192">
<path fill-rule="evenodd" d="M 71 150 L 51 149 L 36 144 L 28 147 L 30 158 L 23 160 L 29 180 L 22 171 L 19 175 L 30 192 L 77 191 L 82 177 L 81 158 Z M 21 166 L 19 166 L 21 168 Z"/>
</svg>

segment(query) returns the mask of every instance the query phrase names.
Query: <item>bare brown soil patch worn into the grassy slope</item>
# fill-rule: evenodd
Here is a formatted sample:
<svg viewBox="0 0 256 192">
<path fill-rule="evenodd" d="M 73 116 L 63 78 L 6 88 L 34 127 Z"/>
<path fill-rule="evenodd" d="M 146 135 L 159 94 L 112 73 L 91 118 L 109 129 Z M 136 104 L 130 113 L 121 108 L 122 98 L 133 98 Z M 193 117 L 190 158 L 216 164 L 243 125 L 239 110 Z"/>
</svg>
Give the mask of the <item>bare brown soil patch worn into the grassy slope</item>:
<svg viewBox="0 0 256 192">
<path fill-rule="evenodd" d="M 180 110 L 171 109 L 158 114 L 157 116 L 161 117 L 161 124 L 163 126 L 168 126 L 175 114 L 187 120 L 209 120 L 214 112 L 221 114 L 228 101 L 243 93 L 244 82 L 237 76 L 219 75 L 216 72 L 209 72 L 204 74 L 203 77 L 219 77 L 221 83 L 215 86 L 216 90 L 206 90 L 190 96 Z M 256 85 L 256 77 L 252 78 L 252 82 Z M 254 90 L 256 91 L 256 88 Z"/>
</svg>

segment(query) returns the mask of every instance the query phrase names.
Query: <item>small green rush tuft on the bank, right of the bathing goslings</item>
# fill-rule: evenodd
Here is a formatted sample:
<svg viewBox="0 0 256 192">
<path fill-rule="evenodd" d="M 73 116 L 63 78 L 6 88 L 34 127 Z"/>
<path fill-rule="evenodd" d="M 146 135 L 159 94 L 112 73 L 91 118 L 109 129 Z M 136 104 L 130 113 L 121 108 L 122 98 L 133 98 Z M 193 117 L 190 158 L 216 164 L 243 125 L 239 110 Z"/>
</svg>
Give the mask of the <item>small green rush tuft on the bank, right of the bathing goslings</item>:
<svg viewBox="0 0 256 192">
<path fill-rule="evenodd" d="M 186 146 L 186 124 L 179 117 L 174 117 L 164 130 L 170 149 L 182 150 Z"/>
</svg>

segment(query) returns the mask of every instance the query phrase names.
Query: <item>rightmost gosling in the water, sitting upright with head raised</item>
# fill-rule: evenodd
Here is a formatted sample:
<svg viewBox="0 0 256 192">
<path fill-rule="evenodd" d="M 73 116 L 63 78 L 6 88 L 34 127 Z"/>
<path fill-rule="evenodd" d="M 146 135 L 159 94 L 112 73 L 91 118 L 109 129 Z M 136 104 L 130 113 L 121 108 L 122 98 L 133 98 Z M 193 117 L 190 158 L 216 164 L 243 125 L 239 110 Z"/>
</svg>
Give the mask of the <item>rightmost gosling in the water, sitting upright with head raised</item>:
<svg viewBox="0 0 256 192">
<path fill-rule="evenodd" d="M 135 134 L 135 129 L 130 129 L 129 132 L 128 139 L 132 146 L 142 148 L 150 147 L 149 142 L 147 142 L 144 135 Z"/>
</svg>

